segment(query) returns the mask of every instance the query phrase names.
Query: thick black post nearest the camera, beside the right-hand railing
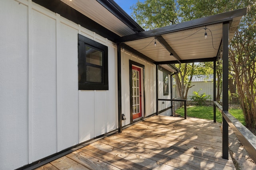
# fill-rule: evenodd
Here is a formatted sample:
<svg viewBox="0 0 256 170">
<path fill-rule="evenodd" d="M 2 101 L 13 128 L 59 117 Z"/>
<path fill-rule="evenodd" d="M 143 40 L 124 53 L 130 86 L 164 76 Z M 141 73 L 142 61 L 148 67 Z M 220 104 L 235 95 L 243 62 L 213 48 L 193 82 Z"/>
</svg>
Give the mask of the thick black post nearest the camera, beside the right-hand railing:
<svg viewBox="0 0 256 170">
<path fill-rule="evenodd" d="M 229 23 L 223 23 L 222 52 L 222 112 L 228 111 L 228 29 Z M 228 159 L 228 123 L 222 116 L 222 158 Z"/>
</svg>

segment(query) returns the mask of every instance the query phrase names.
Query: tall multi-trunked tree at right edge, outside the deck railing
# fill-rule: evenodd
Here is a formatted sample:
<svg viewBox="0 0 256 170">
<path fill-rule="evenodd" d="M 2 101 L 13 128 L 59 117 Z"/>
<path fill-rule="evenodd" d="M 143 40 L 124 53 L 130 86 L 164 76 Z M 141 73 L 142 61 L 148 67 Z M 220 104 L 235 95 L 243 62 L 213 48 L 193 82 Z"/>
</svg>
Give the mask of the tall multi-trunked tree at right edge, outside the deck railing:
<svg viewBox="0 0 256 170">
<path fill-rule="evenodd" d="M 230 45 L 230 61 L 248 127 L 256 128 L 256 0 L 246 0 L 248 13 Z"/>
</svg>

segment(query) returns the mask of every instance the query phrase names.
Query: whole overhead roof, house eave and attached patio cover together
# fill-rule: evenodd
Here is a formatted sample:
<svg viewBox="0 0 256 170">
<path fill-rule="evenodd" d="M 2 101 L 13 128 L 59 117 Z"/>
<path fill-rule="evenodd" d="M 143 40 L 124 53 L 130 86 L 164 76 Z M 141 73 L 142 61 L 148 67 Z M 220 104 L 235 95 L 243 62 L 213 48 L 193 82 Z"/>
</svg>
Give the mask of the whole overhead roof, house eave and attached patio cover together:
<svg viewBox="0 0 256 170">
<path fill-rule="evenodd" d="M 216 61 L 222 57 L 223 23 L 229 23 L 231 41 L 242 16 L 246 15 L 243 8 L 145 31 L 114 0 L 32 1 L 171 72 L 175 72 L 175 68 L 165 64 Z"/>
</svg>

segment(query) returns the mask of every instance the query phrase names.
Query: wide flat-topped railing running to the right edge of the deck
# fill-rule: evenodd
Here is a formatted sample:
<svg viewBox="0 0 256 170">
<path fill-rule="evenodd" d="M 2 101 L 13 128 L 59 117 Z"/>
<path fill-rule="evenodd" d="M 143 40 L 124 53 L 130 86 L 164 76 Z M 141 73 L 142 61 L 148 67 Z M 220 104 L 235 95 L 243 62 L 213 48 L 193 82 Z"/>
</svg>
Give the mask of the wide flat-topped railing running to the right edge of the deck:
<svg viewBox="0 0 256 170">
<path fill-rule="evenodd" d="M 223 111 L 222 106 L 218 104 L 218 102 L 214 102 L 214 105 L 221 111 L 222 116 L 228 122 L 228 125 L 232 128 L 240 142 L 244 145 L 244 148 L 250 154 L 252 160 L 256 162 L 256 136 L 228 111 Z"/>
</svg>

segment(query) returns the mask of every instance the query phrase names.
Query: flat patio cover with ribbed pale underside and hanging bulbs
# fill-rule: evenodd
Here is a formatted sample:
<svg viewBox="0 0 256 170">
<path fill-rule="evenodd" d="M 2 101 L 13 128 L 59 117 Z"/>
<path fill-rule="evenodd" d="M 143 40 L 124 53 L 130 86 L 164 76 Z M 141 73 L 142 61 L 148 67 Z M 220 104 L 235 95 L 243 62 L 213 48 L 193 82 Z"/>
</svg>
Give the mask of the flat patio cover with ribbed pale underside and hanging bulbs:
<svg viewBox="0 0 256 170">
<path fill-rule="evenodd" d="M 156 64 L 214 61 L 216 57 L 221 57 L 218 54 L 222 50 L 223 23 L 228 22 L 230 25 L 231 41 L 244 15 L 246 8 L 142 31 L 121 37 L 118 41 L 149 57 Z"/>
</svg>

